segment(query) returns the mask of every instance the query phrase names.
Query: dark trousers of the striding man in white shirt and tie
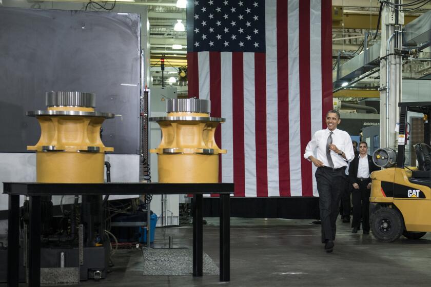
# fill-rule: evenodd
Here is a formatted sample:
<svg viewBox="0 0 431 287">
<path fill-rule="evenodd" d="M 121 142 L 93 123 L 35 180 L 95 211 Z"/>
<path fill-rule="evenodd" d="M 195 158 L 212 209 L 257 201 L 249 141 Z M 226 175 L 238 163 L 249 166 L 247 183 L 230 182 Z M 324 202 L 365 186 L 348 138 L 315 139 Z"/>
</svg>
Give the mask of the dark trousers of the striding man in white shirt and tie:
<svg viewBox="0 0 431 287">
<path fill-rule="evenodd" d="M 321 167 L 316 170 L 317 191 L 319 192 L 322 242 L 335 240 L 335 222 L 338 216 L 341 192 L 345 188 L 345 170 Z"/>
</svg>

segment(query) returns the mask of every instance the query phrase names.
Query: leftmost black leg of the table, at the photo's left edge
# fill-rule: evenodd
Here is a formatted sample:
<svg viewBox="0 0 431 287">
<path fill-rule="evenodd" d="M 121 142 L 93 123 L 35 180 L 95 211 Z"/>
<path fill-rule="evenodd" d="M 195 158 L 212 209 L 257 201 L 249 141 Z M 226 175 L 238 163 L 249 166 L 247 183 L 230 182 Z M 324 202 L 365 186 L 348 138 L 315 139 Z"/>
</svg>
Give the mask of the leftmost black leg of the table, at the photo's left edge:
<svg viewBox="0 0 431 287">
<path fill-rule="evenodd" d="M 19 279 L 19 195 L 9 195 L 7 268 L 8 287 L 17 287 Z"/>
</svg>

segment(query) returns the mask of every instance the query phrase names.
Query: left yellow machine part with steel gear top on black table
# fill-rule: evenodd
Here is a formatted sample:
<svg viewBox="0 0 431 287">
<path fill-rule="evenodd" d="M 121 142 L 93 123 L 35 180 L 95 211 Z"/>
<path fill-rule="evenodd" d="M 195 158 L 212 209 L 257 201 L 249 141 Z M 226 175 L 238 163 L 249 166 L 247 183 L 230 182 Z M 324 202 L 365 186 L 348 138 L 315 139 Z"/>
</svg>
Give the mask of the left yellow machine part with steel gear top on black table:
<svg viewBox="0 0 431 287">
<path fill-rule="evenodd" d="M 114 115 L 95 112 L 90 93 L 49 92 L 46 103 L 46 111 L 27 112 L 41 125 L 41 138 L 27 147 L 36 151 L 37 182 L 103 182 L 105 152 L 113 148 L 103 145 L 100 129 Z"/>
</svg>

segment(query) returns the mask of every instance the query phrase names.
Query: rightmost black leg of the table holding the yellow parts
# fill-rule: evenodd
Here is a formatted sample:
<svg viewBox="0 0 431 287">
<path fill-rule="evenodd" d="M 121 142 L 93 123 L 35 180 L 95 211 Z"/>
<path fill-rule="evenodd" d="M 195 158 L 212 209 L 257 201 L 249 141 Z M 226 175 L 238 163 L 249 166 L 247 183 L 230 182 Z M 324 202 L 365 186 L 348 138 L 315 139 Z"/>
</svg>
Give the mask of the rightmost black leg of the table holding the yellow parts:
<svg viewBox="0 0 431 287">
<path fill-rule="evenodd" d="M 230 194 L 220 195 L 220 281 L 230 281 Z"/>
</svg>

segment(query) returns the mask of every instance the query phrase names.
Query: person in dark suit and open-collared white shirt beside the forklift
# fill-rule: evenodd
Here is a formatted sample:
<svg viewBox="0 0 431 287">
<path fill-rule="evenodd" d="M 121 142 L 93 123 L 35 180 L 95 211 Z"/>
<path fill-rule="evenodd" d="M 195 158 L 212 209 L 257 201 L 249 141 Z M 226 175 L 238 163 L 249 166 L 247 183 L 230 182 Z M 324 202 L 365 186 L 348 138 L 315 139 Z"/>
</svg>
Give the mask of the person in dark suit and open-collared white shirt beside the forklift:
<svg viewBox="0 0 431 287">
<path fill-rule="evenodd" d="M 379 168 L 374 164 L 373 157 L 367 154 L 368 145 L 365 141 L 359 143 L 359 155 L 350 162 L 349 182 L 353 186 L 352 203 L 353 219 L 351 233 L 358 233 L 361 224 L 364 234 L 369 234 L 369 195 L 371 189 L 370 173 Z"/>
</svg>

